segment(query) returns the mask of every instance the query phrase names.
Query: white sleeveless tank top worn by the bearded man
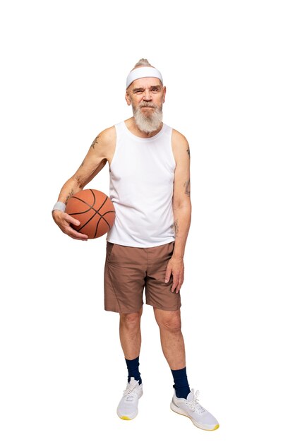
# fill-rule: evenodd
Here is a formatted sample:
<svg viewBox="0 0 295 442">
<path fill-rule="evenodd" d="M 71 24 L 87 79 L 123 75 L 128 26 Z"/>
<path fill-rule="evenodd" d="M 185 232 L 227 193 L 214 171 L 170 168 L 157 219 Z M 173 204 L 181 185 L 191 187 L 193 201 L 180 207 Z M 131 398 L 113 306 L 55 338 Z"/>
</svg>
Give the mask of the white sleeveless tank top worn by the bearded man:
<svg viewBox="0 0 295 442">
<path fill-rule="evenodd" d="M 175 239 L 172 197 L 175 160 L 171 127 L 151 138 L 133 135 L 124 121 L 115 124 L 116 150 L 109 169 L 109 197 L 116 217 L 107 241 L 153 247 Z"/>
</svg>

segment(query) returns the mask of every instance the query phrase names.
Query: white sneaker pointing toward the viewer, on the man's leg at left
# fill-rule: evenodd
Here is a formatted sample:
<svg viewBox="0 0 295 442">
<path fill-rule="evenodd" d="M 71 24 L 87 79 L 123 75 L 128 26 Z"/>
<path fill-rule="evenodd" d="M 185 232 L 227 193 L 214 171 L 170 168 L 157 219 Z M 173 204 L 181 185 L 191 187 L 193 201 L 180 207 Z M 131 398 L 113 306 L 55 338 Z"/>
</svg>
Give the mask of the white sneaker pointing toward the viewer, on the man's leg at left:
<svg viewBox="0 0 295 442">
<path fill-rule="evenodd" d="M 123 398 L 120 400 L 116 414 L 121 419 L 130 421 L 138 414 L 138 400 L 143 395 L 143 384 L 138 383 L 134 378 L 127 383 L 126 390 L 124 390 Z"/>
</svg>

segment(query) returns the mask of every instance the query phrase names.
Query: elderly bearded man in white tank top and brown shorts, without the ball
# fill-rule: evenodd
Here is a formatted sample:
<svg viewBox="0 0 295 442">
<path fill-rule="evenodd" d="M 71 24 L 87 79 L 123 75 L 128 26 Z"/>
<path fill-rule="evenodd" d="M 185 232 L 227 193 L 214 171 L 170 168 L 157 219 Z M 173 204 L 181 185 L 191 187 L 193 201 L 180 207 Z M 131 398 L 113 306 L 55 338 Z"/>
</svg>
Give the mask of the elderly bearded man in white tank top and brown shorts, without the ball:
<svg viewBox="0 0 295 442">
<path fill-rule="evenodd" d="M 174 378 L 171 410 L 190 417 L 200 429 L 215 430 L 215 417 L 198 402 L 186 376 L 181 333 L 180 289 L 183 256 L 191 225 L 190 149 L 186 138 L 162 122 L 166 88 L 161 73 L 140 59 L 128 74 L 126 102 L 133 117 L 105 129 L 93 141 L 77 172 L 54 205 L 54 221 L 73 239 L 87 240 L 71 227 L 79 222 L 64 210 L 109 163 L 109 196 L 116 210 L 107 234 L 104 308 L 120 316 L 120 340 L 128 382 L 117 407 L 121 419 L 138 414 L 143 395 L 139 372 L 140 317 L 153 307 L 164 357 Z"/>
</svg>

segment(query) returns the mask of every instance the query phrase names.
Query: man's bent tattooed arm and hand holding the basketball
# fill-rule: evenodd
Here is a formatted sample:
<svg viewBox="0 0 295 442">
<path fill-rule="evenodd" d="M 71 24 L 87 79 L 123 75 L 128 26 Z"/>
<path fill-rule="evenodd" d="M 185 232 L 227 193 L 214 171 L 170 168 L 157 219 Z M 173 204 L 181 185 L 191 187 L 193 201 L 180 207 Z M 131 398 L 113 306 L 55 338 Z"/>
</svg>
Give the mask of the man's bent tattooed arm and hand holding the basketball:
<svg viewBox="0 0 295 442">
<path fill-rule="evenodd" d="M 71 198 L 71 196 L 78 191 L 83 190 L 86 184 L 88 184 L 107 163 L 109 152 L 112 151 L 115 143 L 116 131 L 114 126 L 105 129 L 97 135 L 80 167 L 75 174 L 73 174 L 73 177 L 68 179 L 64 186 L 62 186 L 58 201 L 61 201 L 61 203 L 66 205 L 68 198 Z M 71 224 L 76 226 L 80 224 L 80 222 L 71 217 L 71 215 L 62 212 L 61 210 L 54 210 L 52 212 L 52 217 L 62 232 L 69 237 L 83 240 L 88 238 L 85 234 L 81 234 L 71 227 Z"/>
</svg>

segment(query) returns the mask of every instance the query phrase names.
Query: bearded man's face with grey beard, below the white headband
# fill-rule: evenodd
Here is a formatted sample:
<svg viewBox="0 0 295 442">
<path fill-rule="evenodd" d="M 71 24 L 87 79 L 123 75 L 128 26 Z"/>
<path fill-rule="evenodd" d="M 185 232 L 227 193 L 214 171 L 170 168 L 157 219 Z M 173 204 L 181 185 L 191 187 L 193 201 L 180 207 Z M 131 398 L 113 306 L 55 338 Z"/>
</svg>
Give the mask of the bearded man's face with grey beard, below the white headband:
<svg viewBox="0 0 295 442">
<path fill-rule="evenodd" d="M 156 131 L 162 122 L 162 106 L 166 88 L 159 78 L 138 78 L 126 90 L 126 102 L 132 104 L 133 115 L 139 129 Z"/>
</svg>

